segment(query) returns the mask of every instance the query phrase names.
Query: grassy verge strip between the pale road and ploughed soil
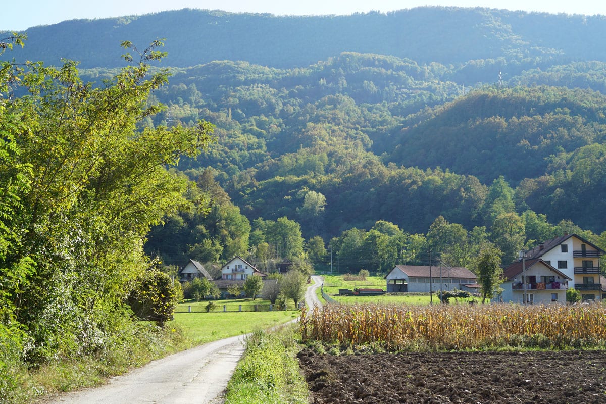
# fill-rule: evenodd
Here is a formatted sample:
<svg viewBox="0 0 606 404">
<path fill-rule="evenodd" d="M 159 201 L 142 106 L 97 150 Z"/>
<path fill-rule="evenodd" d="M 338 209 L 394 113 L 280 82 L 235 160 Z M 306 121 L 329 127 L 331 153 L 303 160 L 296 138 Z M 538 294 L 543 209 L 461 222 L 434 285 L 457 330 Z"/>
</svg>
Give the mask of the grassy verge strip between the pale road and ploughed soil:
<svg viewBox="0 0 606 404">
<path fill-rule="evenodd" d="M 306 404 L 307 384 L 296 359 L 295 325 L 267 333 L 255 331 L 227 385 L 225 404 Z"/>
</svg>

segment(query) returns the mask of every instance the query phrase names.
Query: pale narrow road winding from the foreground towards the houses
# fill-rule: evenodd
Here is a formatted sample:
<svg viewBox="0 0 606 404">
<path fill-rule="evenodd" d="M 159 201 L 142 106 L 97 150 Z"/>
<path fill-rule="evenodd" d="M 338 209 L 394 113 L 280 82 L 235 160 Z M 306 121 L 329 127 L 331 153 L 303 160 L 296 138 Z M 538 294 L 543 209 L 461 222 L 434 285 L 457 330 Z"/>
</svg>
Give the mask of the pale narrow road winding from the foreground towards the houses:
<svg viewBox="0 0 606 404">
<path fill-rule="evenodd" d="M 307 288 L 308 307 L 322 306 L 313 276 Z M 222 392 L 244 353 L 244 336 L 210 342 L 155 360 L 142 368 L 110 379 L 107 385 L 63 394 L 44 404 L 219 404 Z"/>
</svg>

